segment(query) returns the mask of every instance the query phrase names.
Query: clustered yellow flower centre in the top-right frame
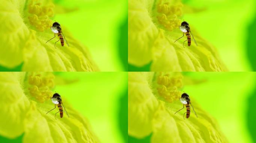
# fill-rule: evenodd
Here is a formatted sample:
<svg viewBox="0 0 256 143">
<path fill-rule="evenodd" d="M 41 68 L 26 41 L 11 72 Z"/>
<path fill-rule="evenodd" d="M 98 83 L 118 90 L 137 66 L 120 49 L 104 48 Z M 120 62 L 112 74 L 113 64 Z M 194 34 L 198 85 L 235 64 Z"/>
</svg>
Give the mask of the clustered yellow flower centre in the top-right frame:
<svg viewBox="0 0 256 143">
<path fill-rule="evenodd" d="M 182 3 L 181 2 L 165 2 L 166 0 L 159 0 L 157 4 L 157 16 L 158 23 L 166 28 L 168 31 L 172 31 L 178 28 L 181 20 L 178 18 L 182 16 Z"/>
</svg>

